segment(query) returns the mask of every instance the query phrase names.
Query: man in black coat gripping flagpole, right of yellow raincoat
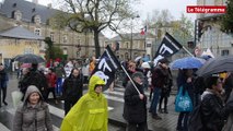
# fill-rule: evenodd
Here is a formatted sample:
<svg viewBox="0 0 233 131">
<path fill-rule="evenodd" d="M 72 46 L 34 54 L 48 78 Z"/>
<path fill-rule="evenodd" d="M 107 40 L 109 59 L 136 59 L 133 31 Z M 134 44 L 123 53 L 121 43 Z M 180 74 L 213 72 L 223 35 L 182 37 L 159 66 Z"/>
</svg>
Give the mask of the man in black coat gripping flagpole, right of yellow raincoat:
<svg viewBox="0 0 233 131">
<path fill-rule="evenodd" d="M 126 86 L 123 116 L 128 122 L 127 131 L 148 131 L 147 97 L 143 92 L 143 73 L 136 72 L 132 74 L 132 81 L 140 94 L 130 81 Z"/>
</svg>

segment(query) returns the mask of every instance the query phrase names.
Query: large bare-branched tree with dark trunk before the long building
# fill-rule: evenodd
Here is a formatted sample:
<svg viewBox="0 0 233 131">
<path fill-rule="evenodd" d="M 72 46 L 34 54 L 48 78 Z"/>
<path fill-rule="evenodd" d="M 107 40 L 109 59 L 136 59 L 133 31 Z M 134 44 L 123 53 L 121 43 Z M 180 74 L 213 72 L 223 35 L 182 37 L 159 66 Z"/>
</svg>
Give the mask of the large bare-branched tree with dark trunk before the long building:
<svg viewBox="0 0 233 131">
<path fill-rule="evenodd" d="M 92 31 L 95 56 L 100 57 L 98 34 L 106 27 L 117 32 L 119 25 L 133 15 L 130 7 L 132 2 L 132 0 L 63 0 L 61 8 L 65 13 L 60 13 L 56 21 L 66 21 L 65 23 L 78 33 Z"/>
</svg>

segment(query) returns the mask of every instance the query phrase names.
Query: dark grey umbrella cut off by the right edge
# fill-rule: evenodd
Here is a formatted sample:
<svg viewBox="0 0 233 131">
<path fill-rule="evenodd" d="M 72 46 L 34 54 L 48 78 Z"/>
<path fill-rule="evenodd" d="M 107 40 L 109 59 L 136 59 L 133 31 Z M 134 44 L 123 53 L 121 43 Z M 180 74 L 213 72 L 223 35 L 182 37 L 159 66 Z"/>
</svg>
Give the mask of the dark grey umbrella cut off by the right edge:
<svg viewBox="0 0 233 131">
<path fill-rule="evenodd" d="M 211 58 L 197 71 L 197 75 L 208 76 L 221 72 L 233 72 L 233 56 Z"/>
</svg>

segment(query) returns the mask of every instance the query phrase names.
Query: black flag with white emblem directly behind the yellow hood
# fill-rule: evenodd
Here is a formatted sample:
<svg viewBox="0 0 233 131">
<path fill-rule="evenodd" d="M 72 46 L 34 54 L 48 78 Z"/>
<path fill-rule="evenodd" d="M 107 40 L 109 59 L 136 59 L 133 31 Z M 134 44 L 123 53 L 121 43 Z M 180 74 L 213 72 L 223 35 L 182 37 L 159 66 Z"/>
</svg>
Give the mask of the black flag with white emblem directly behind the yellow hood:
<svg viewBox="0 0 233 131">
<path fill-rule="evenodd" d="M 118 69 L 120 69 L 120 63 L 110 47 L 107 46 L 92 74 L 98 75 L 105 81 L 105 87 L 103 88 L 105 91 L 115 80 L 115 73 Z"/>
</svg>

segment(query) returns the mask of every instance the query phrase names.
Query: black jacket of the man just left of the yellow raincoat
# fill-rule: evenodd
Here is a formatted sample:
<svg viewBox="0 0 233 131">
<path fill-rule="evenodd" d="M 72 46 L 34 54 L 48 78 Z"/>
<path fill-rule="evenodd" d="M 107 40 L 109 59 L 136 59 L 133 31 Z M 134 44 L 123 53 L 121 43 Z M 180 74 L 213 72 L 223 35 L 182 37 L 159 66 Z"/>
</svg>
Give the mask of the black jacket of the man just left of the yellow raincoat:
<svg viewBox="0 0 233 131">
<path fill-rule="evenodd" d="M 65 99 L 78 100 L 82 96 L 83 82 L 82 76 L 79 74 L 74 78 L 72 74 L 63 82 L 63 97 Z"/>
</svg>

